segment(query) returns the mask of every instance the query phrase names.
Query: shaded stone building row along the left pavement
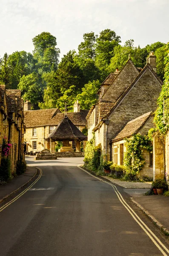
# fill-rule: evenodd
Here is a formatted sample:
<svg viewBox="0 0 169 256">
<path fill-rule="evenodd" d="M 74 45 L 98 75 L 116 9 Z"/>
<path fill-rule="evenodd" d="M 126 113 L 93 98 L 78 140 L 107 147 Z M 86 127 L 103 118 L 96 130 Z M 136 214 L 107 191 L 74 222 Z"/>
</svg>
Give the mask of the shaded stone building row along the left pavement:
<svg viewBox="0 0 169 256">
<path fill-rule="evenodd" d="M 11 174 L 15 175 L 17 161 L 24 160 L 23 99 L 20 90 L 6 90 L 5 85 L 0 85 L 0 129 L 0 148 L 3 138 L 12 145 L 9 158 Z"/>
</svg>

